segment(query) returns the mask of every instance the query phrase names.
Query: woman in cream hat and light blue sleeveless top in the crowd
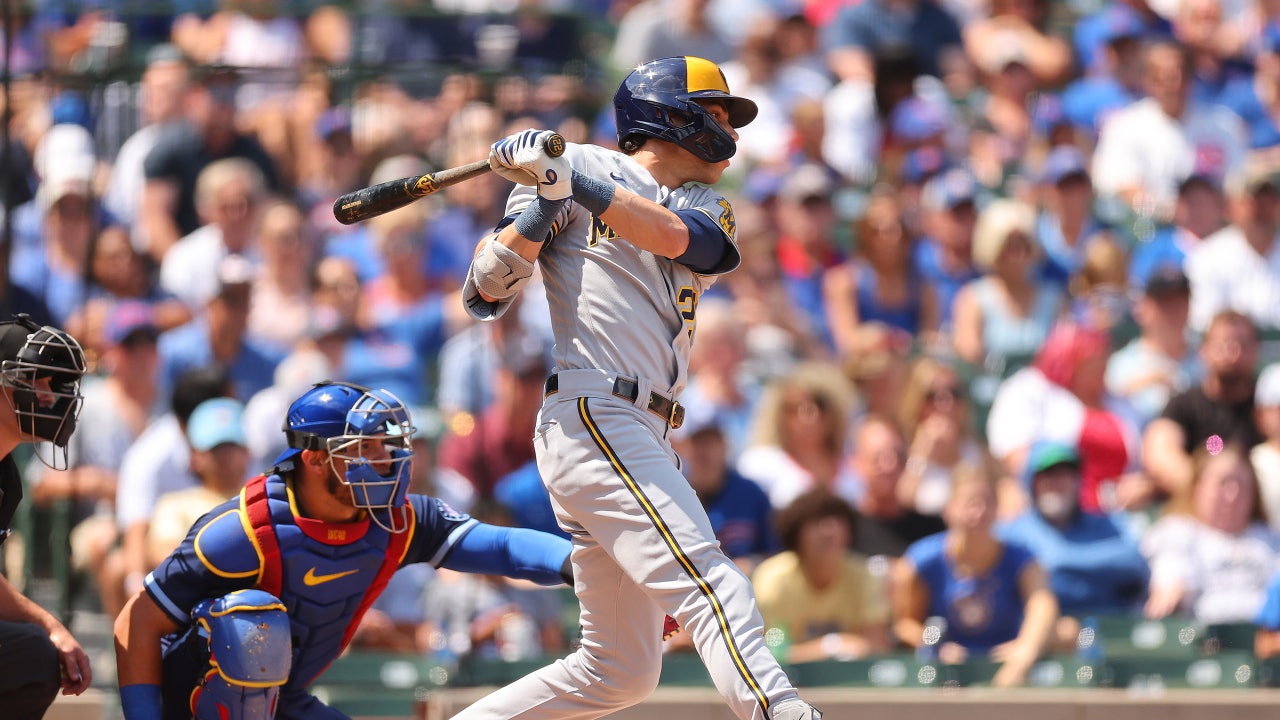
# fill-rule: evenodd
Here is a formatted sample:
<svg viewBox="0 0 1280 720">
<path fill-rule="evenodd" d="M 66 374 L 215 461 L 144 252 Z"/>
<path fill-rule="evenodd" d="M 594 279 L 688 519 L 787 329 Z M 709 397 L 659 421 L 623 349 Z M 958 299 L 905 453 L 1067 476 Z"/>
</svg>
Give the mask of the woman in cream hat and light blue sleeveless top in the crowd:
<svg viewBox="0 0 1280 720">
<path fill-rule="evenodd" d="M 1060 286 L 1036 282 L 1036 210 L 995 200 L 973 233 L 973 261 L 986 274 L 956 293 L 951 328 L 966 363 L 1029 356 L 1044 343 L 1064 310 Z"/>
</svg>

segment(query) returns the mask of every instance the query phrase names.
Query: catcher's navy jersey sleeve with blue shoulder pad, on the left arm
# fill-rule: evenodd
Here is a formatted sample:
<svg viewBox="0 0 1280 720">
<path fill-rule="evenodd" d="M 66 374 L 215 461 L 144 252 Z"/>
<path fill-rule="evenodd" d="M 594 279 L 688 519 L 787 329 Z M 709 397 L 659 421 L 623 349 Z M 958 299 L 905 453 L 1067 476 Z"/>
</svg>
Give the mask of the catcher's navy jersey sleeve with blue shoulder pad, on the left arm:
<svg viewBox="0 0 1280 720">
<path fill-rule="evenodd" d="M 261 570 L 261 551 L 236 498 L 197 520 L 182 544 L 147 575 L 145 587 L 165 614 L 186 625 L 197 602 L 256 587 Z"/>
</svg>

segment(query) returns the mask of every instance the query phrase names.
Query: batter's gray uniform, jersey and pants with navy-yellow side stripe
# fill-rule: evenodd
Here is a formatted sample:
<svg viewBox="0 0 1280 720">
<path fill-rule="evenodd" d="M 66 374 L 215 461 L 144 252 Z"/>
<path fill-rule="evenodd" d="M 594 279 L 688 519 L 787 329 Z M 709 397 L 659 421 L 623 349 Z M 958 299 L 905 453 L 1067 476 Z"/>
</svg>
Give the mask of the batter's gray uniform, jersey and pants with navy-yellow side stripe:
<svg viewBox="0 0 1280 720">
<path fill-rule="evenodd" d="M 672 210 L 698 210 L 724 233 L 722 269 L 737 265 L 730 204 L 714 190 L 659 187 L 621 152 L 570 145 L 572 167 Z M 534 188 L 517 187 L 508 217 Z M 750 580 L 724 556 L 680 473 L 666 418 L 685 387 L 698 299 L 714 277 L 640 250 L 567 202 L 539 265 L 556 334 L 556 386 L 539 415 L 538 468 L 573 538 L 582 646 L 488 696 L 457 719 L 562 720 L 608 715 L 648 697 L 662 671 L 663 615 L 690 633 L 716 687 L 742 720 L 765 720 L 795 689 L 764 643 Z M 635 383 L 620 397 L 618 378 Z M 631 386 L 622 386 L 630 389 Z"/>
</svg>

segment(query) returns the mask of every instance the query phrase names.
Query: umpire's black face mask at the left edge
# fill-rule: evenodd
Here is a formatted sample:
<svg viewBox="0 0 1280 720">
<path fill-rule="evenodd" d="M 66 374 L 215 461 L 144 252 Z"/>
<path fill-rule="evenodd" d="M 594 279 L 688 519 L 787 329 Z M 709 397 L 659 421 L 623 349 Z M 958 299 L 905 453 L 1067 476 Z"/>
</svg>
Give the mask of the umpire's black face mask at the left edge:
<svg viewBox="0 0 1280 720">
<path fill-rule="evenodd" d="M 28 315 L 0 323 L 0 386 L 22 439 L 36 443 L 36 457 L 55 470 L 69 465 L 84 370 L 84 351 L 65 332 Z"/>
</svg>

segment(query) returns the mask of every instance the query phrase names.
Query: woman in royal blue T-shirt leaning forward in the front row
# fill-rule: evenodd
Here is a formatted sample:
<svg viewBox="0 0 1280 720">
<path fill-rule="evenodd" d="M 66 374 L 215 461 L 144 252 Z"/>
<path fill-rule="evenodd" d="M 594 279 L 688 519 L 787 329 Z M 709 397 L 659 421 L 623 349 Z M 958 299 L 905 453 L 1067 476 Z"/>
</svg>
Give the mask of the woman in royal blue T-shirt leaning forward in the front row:
<svg viewBox="0 0 1280 720">
<path fill-rule="evenodd" d="M 942 516 L 946 532 L 914 542 L 893 569 L 893 632 L 910 647 L 932 647 L 925 624 L 942 625 L 943 662 L 986 655 L 1001 662 L 992 684 L 1021 684 L 1057 624 L 1044 570 L 1029 550 L 993 534 L 996 484 L 984 469 L 956 471 Z"/>
</svg>

